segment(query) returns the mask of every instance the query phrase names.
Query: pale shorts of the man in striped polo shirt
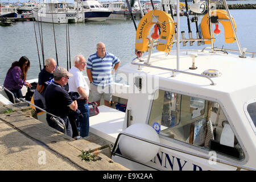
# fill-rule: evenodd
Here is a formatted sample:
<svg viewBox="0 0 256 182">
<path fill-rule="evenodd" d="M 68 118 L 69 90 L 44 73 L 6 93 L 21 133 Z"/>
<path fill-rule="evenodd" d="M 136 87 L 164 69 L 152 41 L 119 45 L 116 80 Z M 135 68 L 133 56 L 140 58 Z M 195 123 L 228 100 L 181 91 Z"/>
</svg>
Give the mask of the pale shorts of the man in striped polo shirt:
<svg viewBox="0 0 256 182">
<path fill-rule="evenodd" d="M 112 85 L 96 86 L 90 83 L 90 91 L 92 91 L 92 102 L 100 101 L 102 96 L 105 101 L 112 100 Z"/>
</svg>

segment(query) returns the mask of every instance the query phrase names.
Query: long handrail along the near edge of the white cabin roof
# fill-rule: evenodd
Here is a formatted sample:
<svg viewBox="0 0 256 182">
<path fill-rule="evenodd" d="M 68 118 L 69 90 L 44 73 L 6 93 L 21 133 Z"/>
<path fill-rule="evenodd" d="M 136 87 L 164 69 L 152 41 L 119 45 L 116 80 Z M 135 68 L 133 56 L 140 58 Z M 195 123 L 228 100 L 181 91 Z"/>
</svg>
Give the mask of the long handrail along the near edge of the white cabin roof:
<svg viewBox="0 0 256 182">
<path fill-rule="evenodd" d="M 135 61 L 135 60 L 134 60 Z M 166 71 L 171 71 L 172 72 L 172 77 L 175 77 L 175 72 L 177 73 L 183 73 L 183 74 L 187 74 L 187 75 L 192 75 L 192 76 L 198 76 L 198 77 L 203 77 L 203 78 L 207 78 L 208 80 L 210 80 L 210 85 L 216 85 L 213 80 L 207 76 L 207 75 L 200 75 L 200 74 L 196 74 L 196 73 L 191 73 L 191 72 L 185 72 L 185 71 L 180 71 L 177 69 L 171 69 L 171 68 L 164 68 L 164 67 L 156 67 L 154 65 L 150 65 L 150 64 L 141 64 L 141 63 L 135 63 L 134 61 L 131 61 L 131 64 L 133 65 L 138 65 L 139 66 L 139 70 L 141 70 L 141 67 L 150 67 L 150 68 L 156 68 L 156 69 L 162 69 L 162 70 L 166 70 Z"/>
</svg>

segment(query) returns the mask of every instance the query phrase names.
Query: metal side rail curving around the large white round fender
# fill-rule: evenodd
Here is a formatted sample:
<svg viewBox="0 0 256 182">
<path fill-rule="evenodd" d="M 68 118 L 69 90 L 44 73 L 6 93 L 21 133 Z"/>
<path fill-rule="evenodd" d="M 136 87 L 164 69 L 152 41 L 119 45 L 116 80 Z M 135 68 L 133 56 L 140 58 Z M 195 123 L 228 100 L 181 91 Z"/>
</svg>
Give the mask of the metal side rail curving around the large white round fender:
<svg viewBox="0 0 256 182">
<path fill-rule="evenodd" d="M 150 166 L 150 165 L 148 165 L 148 164 L 139 162 L 138 160 L 131 159 L 131 158 L 127 157 L 127 156 L 123 156 L 123 155 L 121 155 L 121 154 L 118 154 L 117 151 L 115 150 L 115 148 L 117 147 L 117 144 L 118 144 L 118 141 L 119 141 L 119 138 L 121 137 L 121 135 L 126 135 L 127 137 L 131 137 L 131 138 L 134 138 L 134 139 L 141 140 L 141 141 L 143 141 L 143 142 L 151 143 L 151 144 L 154 144 L 154 145 L 159 146 L 159 147 L 167 148 L 167 149 L 169 149 L 169 150 L 181 152 L 181 153 L 183 153 L 183 154 L 192 155 L 192 156 L 196 156 L 197 158 L 207 159 L 207 160 L 211 160 L 211 161 L 212 161 L 212 156 L 209 157 L 209 156 L 205 156 L 205 155 L 195 154 L 194 152 L 189 152 L 189 151 L 182 150 L 182 149 L 180 149 L 180 148 L 167 146 L 166 144 L 154 142 L 154 141 L 152 141 L 152 140 L 148 140 L 148 139 L 145 139 L 145 138 L 137 137 L 137 136 L 135 136 L 135 135 L 128 134 L 128 133 L 119 133 L 119 134 L 118 134 L 117 139 L 115 140 L 115 144 L 114 144 L 113 150 L 112 150 L 112 156 L 117 155 L 117 156 L 120 156 L 121 158 L 125 158 L 125 159 L 128 159 L 128 160 L 131 160 L 131 161 L 133 161 L 133 162 L 142 164 L 143 166 L 150 167 L 150 168 L 153 168 L 153 169 L 156 169 L 156 170 L 160 170 L 160 169 L 154 168 L 154 167 L 152 167 L 152 166 Z M 236 168 L 237 168 L 237 169 L 236 169 L 237 171 L 240 171 L 241 169 L 245 169 L 245 170 L 247 170 L 247 171 L 256 171 L 256 169 L 254 169 L 254 168 L 241 166 L 240 164 L 235 164 L 235 163 L 232 163 L 232 162 L 226 162 L 225 160 L 221 160 L 221 159 L 216 159 L 216 160 L 214 160 L 214 161 L 215 161 L 216 163 L 225 164 L 225 165 L 228 165 L 228 166 L 230 166 L 230 167 L 236 167 Z"/>
</svg>

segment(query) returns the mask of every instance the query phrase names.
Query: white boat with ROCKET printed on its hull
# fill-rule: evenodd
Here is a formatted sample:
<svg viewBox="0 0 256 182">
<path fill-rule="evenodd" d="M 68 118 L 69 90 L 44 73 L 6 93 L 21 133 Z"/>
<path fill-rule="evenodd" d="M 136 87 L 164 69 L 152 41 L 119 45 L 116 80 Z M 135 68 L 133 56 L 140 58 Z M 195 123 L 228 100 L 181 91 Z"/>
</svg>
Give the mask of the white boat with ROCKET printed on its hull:
<svg viewBox="0 0 256 182">
<path fill-rule="evenodd" d="M 81 11 L 69 9 L 68 2 L 43 2 L 38 9 L 32 9 L 37 22 L 80 23 L 84 22 Z"/>
</svg>

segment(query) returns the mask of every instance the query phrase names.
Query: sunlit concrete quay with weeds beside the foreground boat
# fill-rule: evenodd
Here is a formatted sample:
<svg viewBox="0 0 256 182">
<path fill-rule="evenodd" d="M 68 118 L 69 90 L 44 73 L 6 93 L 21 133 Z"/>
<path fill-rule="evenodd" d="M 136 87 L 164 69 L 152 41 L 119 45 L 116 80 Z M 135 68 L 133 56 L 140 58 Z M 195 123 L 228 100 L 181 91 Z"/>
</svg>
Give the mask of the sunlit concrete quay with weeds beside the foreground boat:
<svg viewBox="0 0 256 182">
<path fill-rule="evenodd" d="M 96 135 L 75 140 L 38 121 L 29 106 L 0 102 L 0 171 L 128 171 L 110 159 L 110 147 Z M 6 113 L 6 111 L 11 111 Z M 82 161 L 82 150 L 96 159 Z"/>
</svg>

